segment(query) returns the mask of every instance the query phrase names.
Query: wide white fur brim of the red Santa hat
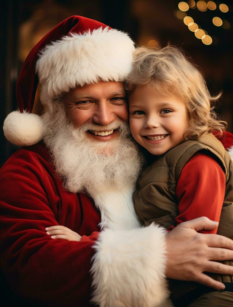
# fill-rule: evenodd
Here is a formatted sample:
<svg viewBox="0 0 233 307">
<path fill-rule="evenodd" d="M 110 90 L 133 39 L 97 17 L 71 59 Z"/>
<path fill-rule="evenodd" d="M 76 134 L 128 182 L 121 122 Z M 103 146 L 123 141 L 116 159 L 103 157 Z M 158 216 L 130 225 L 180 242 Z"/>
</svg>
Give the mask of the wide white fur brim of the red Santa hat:
<svg viewBox="0 0 233 307">
<path fill-rule="evenodd" d="M 134 50 L 128 34 L 109 28 L 70 34 L 52 42 L 36 63 L 42 103 L 76 86 L 100 80 L 124 81 Z"/>
</svg>

